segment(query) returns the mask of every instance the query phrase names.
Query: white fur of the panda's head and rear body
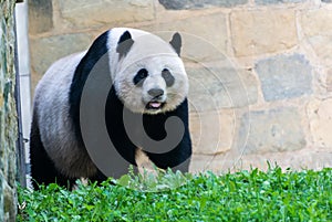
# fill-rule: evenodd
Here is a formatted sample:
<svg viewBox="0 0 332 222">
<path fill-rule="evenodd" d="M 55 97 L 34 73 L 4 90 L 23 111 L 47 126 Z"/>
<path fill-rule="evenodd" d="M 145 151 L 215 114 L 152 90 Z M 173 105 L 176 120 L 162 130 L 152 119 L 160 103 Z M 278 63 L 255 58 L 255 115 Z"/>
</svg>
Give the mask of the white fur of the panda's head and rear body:
<svg viewBox="0 0 332 222">
<path fill-rule="evenodd" d="M 121 35 L 128 31 L 134 44 L 123 57 L 116 52 Z M 127 28 L 116 28 L 107 32 L 110 73 L 118 98 L 134 113 L 159 114 L 174 110 L 188 94 L 188 78 L 184 64 L 172 47 L 151 33 Z M 69 94 L 75 70 L 86 54 L 76 53 L 55 62 L 39 82 L 34 94 L 34 118 L 39 127 L 40 139 L 55 168 L 68 178 L 90 178 L 97 172 L 86 151 L 76 140 L 73 121 L 70 118 Z M 146 68 L 148 76 L 142 87 L 135 87 L 133 78 L 139 68 Z M 170 71 L 176 81 L 167 87 L 160 73 Z M 147 93 L 151 88 L 160 88 L 165 93 L 159 109 L 146 109 L 146 103 L 153 99 Z M 136 163 L 146 163 L 149 158 L 137 149 Z"/>
</svg>

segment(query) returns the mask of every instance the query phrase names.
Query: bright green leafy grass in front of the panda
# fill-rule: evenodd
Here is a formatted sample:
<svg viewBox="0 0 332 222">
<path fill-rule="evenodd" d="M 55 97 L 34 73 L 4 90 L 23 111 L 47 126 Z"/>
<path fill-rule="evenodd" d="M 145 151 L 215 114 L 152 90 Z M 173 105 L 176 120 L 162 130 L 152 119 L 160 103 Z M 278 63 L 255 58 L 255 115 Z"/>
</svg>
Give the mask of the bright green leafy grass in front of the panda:
<svg viewBox="0 0 332 222">
<path fill-rule="evenodd" d="M 331 168 L 128 175 L 118 183 L 19 188 L 18 221 L 332 221 Z"/>
</svg>

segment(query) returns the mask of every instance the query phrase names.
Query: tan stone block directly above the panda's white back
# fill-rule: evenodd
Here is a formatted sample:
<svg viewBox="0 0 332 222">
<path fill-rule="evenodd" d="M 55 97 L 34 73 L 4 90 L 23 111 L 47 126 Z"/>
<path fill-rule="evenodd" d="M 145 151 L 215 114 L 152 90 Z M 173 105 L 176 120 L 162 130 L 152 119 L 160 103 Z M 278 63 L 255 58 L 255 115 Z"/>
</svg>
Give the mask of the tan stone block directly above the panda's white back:
<svg viewBox="0 0 332 222">
<path fill-rule="evenodd" d="M 32 86 L 35 86 L 37 82 L 56 60 L 87 50 L 92 41 L 92 36 L 85 33 L 31 39 Z"/>
</svg>

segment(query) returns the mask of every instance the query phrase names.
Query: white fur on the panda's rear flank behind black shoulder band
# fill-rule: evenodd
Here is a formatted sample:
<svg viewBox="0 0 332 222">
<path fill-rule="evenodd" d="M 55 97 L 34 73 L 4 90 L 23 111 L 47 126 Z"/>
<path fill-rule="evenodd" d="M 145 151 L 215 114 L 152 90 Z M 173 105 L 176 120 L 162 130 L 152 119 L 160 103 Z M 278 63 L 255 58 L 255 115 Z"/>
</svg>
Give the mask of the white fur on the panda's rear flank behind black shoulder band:
<svg viewBox="0 0 332 222">
<path fill-rule="evenodd" d="M 38 127 L 45 151 L 52 159 L 56 159 L 55 165 L 60 166 L 64 173 L 70 172 L 72 176 L 82 173 L 81 166 L 77 166 L 75 171 L 73 162 L 77 159 L 89 161 L 89 157 L 82 152 L 82 147 L 77 144 L 72 130 L 73 121 L 69 115 L 71 83 L 75 68 L 85 53 L 75 53 L 53 63 L 34 93 L 34 112 L 38 113 Z M 91 166 L 93 165 L 86 165 L 94 171 L 94 167 Z"/>
</svg>

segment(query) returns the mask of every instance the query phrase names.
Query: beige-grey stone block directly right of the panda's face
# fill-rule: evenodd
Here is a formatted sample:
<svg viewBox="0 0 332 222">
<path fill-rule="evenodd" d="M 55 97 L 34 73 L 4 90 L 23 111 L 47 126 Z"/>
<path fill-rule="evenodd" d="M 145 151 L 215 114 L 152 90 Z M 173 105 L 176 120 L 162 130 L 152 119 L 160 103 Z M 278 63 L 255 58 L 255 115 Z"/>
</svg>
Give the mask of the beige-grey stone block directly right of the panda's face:
<svg viewBox="0 0 332 222">
<path fill-rule="evenodd" d="M 186 70 L 193 110 L 243 107 L 257 102 L 258 85 L 250 72 L 217 66 Z"/>
</svg>

